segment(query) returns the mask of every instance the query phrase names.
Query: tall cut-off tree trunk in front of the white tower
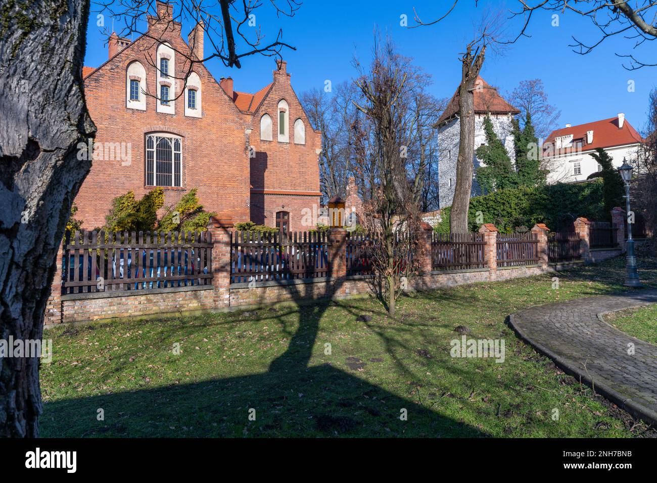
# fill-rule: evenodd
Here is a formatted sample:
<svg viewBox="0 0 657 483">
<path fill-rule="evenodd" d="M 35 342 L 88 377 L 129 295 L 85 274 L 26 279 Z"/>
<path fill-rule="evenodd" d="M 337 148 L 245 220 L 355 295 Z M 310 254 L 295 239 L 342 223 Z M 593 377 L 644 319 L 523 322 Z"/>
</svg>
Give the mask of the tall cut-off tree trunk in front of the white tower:
<svg viewBox="0 0 657 483">
<path fill-rule="evenodd" d="M 468 208 L 470 208 L 470 193 L 472 193 L 472 171 L 474 157 L 474 89 L 479 71 L 484 64 L 486 47 L 472 55 L 472 45 L 461 62 L 461 85 L 459 85 L 459 157 L 456 164 L 456 185 L 451 211 L 449 212 L 449 231 L 451 233 L 468 232 Z"/>
</svg>

